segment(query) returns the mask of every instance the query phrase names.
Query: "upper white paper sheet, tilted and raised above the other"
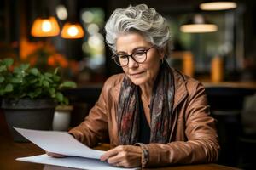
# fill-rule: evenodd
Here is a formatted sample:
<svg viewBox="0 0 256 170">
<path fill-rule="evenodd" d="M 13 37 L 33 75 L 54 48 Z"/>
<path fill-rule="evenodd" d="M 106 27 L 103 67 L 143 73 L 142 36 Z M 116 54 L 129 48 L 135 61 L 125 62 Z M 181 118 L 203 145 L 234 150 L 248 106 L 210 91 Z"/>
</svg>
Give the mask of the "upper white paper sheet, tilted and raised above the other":
<svg viewBox="0 0 256 170">
<path fill-rule="evenodd" d="M 14 127 L 26 139 L 37 144 L 43 150 L 61 154 L 64 156 L 81 156 L 100 159 L 105 151 L 92 150 L 86 145 L 74 139 L 67 132 L 29 130 Z"/>
</svg>

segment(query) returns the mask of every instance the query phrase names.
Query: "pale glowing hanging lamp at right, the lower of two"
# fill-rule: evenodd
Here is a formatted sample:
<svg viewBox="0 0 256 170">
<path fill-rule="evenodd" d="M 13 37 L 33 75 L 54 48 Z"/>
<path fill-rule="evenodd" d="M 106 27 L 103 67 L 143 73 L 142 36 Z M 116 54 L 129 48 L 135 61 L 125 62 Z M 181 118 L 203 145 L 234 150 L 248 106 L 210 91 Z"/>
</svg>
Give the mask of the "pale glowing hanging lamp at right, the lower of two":
<svg viewBox="0 0 256 170">
<path fill-rule="evenodd" d="M 218 31 L 218 26 L 208 22 L 203 15 L 195 14 L 188 20 L 183 26 L 180 27 L 180 31 L 186 33 L 203 33 Z"/>
</svg>

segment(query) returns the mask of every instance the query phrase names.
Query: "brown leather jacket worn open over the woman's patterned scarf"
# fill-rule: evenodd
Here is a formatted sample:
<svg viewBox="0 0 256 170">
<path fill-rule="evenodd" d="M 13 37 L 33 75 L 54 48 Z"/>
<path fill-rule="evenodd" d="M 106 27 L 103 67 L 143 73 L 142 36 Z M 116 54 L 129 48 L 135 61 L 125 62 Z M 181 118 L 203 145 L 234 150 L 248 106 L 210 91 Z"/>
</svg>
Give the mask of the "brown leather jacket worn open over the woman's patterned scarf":
<svg viewBox="0 0 256 170">
<path fill-rule="evenodd" d="M 209 116 L 209 105 L 203 85 L 174 71 L 175 97 L 172 139 L 168 144 L 145 144 L 149 152 L 146 167 L 170 164 L 206 163 L 218 159 L 218 134 Z M 94 146 L 110 139 L 111 147 L 119 145 L 116 111 L 120 85 L 125 74 L 109 77 L 96 105 L 78 127 L 70 130 L 76 139 Z"/>
</svg>

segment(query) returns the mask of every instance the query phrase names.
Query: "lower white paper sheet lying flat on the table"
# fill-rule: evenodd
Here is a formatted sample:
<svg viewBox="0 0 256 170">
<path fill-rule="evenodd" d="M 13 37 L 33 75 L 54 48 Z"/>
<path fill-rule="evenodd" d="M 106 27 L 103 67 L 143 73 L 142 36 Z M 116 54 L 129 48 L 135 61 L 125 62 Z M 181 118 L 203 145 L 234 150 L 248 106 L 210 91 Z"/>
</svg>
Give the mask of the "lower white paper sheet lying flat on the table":
<svg viewBox="0 0 256 170">
<path fill-rule="evenodd" d="M 122 167 L 112 167 L 107 162 L 89 159 L 84 157 L 75 157 L 75 156 L 67 156 L 63 158 L 55 158 L 44 155 L 39 156 L 29 156 L 29 157 L 21 157 L 17 158 L 17 161 L 29 161 L 34 163 L 42 163 L 47 165 L 55 165 L 61 167 L 74 167 L 79 169 L 93 169 L 93 170 L 118 170 L 118 169 L 137 169 L 137 168 L 122 168 Z"/>
</svg>

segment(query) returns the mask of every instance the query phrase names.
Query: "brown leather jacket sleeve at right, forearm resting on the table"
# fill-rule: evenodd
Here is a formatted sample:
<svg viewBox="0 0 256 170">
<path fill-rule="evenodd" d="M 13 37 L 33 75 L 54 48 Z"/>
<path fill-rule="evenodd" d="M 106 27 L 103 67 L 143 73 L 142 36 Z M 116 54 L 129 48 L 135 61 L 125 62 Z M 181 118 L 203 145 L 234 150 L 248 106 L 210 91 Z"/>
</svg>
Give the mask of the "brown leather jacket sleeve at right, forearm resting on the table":
<svg viewBox="0 0 256 170">
<path fill-rule="evenodd" d="M 189 94 L 184 117 L 188 140 L 168 144 L 145 144 L 142 148 L 148 152 L 148 161 L 144 162 L 143 167 L 217 161 L 218 135 L 215 120 L 209 116 L 205 88 L 197 83 L 194 89 Z"/>
</svg>

